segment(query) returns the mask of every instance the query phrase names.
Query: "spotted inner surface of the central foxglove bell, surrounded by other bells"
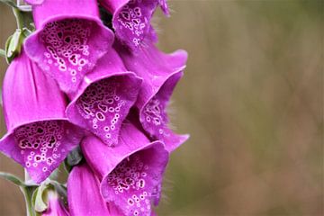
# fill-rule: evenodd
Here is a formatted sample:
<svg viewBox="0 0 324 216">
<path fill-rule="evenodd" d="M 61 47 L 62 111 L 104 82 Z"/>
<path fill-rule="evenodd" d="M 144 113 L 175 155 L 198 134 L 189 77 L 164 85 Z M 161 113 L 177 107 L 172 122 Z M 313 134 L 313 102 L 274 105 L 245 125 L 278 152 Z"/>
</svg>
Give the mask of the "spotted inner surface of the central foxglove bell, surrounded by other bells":
<svg viewBox="0 0 324 216">
<path fill-rule="evenodd" d="M 76 101 L 87 129 L 110 146 L 118 142 L 121 121 L 131 106 L 128 99 L 131 93 L 124 81 L 127 82 L 126 77 L 122 76 L 100 80 L 88 86 Z"/>
</svg>

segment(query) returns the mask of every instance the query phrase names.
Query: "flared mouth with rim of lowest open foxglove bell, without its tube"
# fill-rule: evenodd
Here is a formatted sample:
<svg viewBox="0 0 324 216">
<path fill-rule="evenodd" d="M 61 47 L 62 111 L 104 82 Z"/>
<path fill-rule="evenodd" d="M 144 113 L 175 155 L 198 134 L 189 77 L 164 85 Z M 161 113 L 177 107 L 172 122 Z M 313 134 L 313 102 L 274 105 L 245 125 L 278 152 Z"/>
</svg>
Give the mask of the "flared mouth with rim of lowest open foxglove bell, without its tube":
<svg viewBox="0 0 324 216">
<path fill-rule="evenodd" d="M 151 202 L 157 205 L 159 201 L 166 161 L 167 153 L 160 142 L 132 152 L 103 178 L 104 199 L 126 215 L 149 215 Z"/>
</svg>

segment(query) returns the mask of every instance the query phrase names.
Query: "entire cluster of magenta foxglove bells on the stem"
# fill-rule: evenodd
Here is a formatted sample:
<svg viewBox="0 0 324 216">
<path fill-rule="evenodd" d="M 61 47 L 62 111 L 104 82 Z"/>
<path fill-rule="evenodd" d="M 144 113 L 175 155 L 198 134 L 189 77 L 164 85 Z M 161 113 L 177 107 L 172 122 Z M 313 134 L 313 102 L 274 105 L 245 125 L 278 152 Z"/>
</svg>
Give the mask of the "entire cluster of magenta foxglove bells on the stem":
<svg viewBox="0 0 324 216">
<path fill-rule="evenodd" d="M 40 184 L 80 146 L 68 211 L 52 196 L 43 215 L 154 214 L 169 154 L 188 139 L 166 114 L 187 54 L 158 50 L 150 24 L 166 0 L 26 2 L 36 31 L 4 77 L 0 150 Z"/>
</svg>

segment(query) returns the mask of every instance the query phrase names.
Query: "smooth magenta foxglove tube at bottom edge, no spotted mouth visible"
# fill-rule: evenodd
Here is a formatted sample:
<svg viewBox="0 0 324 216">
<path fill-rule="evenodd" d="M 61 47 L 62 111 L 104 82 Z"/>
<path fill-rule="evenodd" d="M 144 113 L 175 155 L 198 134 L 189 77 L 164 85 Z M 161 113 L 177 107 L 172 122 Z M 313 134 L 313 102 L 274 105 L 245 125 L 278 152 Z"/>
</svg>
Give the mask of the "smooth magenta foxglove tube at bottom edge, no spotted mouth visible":
<svg viewBox="0 0 324 216">
<path fill-rule="evenodd" d="M 100 193 L 100 182 L 87 164 L 74 166 L 67 179 L 71 216 L 112 215 Z"/>
</svg>

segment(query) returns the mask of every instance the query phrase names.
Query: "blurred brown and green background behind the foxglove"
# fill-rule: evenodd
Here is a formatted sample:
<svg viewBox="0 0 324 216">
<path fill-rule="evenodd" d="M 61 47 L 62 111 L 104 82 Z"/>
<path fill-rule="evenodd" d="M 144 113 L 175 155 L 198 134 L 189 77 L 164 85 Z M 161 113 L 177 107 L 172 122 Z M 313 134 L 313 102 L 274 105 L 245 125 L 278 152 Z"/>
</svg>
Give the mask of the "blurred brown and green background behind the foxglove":
<svg viewBox="0 0 324 216">
<path fill-rule="evenodd" d="M 159 215 L 324 215 L 323 2 L 169 4 L 154 22 L 159 48 L 189 52 L 169 112 L 191 139 L 171 157 Z M 0 4 L 2 48 L 14 29 Z M 0 170 L 23 176 L 3 155 Z M 0 215 L 23 213 L 22 193 L 0 179 Z"/>
</svg>

